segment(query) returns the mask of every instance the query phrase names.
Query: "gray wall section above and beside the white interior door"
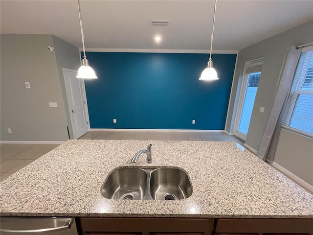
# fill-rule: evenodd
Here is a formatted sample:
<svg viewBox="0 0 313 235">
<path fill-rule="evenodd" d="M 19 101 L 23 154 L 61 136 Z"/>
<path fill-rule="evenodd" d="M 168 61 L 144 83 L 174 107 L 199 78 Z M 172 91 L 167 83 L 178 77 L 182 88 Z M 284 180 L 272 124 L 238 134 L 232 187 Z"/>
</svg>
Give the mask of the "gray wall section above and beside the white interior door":
<svg viewBox="0 0 313 235">
<path fill-rule="evenodd" d="M 81 66 L 80 62 L 80 51 L 78 47 L 75 47 L 65 41 L 63 41 L 60 38 L 57 38 L 55 36 L 52 36 L 53 41 L 53 47 L 55 51 L 55 57 L 57 61 L 57 69 L 60 77 L 61 82 L 61 89 L 62 89 L 62 95 L 64 99 L 64 107 L 66 110 L 66 116 L 67 116 L 67 123 L 68 123 L 68 130 L 69 130 L 69 136 L 70 139 L 74 139 L 72 126 L 70 125 L 70 113 L 68 112 L 68 103 L 67 103 L 67 93 L 65 88 L 65 81 L 63 76 L 63 68 L 71 69 L 71 70 L 78 70 Z"/>
</svg>

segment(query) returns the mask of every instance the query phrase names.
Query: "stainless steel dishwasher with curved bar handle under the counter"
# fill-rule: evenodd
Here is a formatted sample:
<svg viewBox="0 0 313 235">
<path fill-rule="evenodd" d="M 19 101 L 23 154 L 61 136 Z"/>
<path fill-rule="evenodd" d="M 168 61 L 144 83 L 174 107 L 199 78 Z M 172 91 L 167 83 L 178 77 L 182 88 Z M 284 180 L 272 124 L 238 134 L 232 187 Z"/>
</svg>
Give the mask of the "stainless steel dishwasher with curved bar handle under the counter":
<svg viewBox="0 0 313 235">
<path fill-rule="evenodd" d="M 77 235 L 77 228 L 75 218 L 1 216 L 0 234 Z"/>
</svg>

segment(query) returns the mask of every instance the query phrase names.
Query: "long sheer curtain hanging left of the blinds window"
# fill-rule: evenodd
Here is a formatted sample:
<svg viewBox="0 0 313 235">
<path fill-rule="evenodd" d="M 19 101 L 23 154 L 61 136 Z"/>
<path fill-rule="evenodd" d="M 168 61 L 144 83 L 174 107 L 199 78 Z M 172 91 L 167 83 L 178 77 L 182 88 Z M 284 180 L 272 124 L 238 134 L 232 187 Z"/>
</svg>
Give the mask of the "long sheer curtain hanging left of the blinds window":
<svg viewBox="0 0 313 235">
<path fill-rule="evenodd" d="M 295 45 L 288 48 L 280 73 L 279 85 L 269 112 L 268 122 L 263 134 L 257 156 L 263 160 L 273 161 L 282 124 L 282 111 L 286 105 L 292 79 L 301 55 L 302 48 Z"/>
</svg>

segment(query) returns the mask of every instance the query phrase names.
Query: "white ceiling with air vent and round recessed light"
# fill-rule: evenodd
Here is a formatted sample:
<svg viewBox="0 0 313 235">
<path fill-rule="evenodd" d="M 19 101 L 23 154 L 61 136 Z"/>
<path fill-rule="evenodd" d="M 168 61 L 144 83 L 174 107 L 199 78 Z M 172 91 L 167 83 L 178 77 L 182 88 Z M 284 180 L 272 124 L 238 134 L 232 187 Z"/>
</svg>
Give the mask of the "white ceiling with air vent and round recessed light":
<svg viewBox="0 0 313 235">
<path fill-rule="evenodd" d="M 81 0 L 85 44 L 99 51 L 207 51 L 213 8 L 214 0 Z M 170 22 L 151 26 L 151 19 Z M 213 50 L 238 51 L 311 20 L 313 0 L 218 0 Z M 82 47 L 76 0 L 0 0 L 0 32 L 52 34 Z"/>
</svg>

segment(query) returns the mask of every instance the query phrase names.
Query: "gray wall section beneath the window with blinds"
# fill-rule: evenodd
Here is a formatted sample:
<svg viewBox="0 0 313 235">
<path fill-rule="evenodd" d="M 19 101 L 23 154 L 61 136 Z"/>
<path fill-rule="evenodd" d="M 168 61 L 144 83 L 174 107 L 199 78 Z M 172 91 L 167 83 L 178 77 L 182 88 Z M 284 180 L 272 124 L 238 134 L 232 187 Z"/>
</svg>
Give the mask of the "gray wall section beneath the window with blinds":
<svg viewBox="0 0 313 235">
<path fill-rule="evenodd" d="M 281 128 L 274 162 L 313 186 L 313 139 Z"/>
</svg>

